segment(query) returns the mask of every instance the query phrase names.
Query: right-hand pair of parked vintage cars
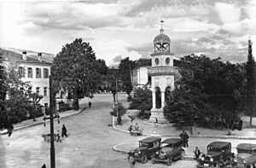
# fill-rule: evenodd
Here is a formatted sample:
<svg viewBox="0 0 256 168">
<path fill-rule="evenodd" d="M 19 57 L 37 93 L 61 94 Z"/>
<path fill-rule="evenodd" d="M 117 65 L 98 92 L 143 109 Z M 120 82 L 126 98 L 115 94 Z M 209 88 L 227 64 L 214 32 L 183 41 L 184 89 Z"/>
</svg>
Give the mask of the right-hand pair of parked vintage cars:
<svg viewBox="0 0 256 168">
<path fill-rule="evenodd" d="M 198 159 L 197 167 L 256 168 L 256 144 L 240 143 L 236 150 L 236 155 L 231 153 L 230 142 L 211 142 L 207 154 Z"/>
</svg>

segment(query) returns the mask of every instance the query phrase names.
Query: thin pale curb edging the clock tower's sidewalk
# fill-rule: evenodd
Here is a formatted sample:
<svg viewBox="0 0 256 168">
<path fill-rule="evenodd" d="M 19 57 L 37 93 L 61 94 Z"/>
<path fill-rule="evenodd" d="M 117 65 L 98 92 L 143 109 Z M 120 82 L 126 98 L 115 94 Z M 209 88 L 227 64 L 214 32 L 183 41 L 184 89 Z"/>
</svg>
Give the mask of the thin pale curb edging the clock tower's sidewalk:
<svg viewBox="0 0 256 168">
<path fill-rule="evenodd" d="M 148 124 L 148 125 L 152 125 L 148 122 L 143 122 L 145 124 Z M 113 119 L 112 119 L 112 124 L 113 124 L 113 130 L 119 130 L 121 132 L 125 132 L 125 133 L 130 133 L 128 130 L 122 130 L 122 129 L 118 129 L 115 127 L 115 124 L 114 124 L 114 116 L 113 116 Z M 153 124 L 154 125 L 154 124 Z M 143 134 L 143 136 L 151 136 L 151 135 L 145 135 Z M 158 135 L 158 136 L 166 136 L 166 137 L 173 137 L 172 135 Z M 177 137 L 177 135 L 175 135 Z M 193 135 L 190 135 L 189 137 L 204 137 L 204 138 L 219 138 L 219 139 L 241 139 L 241 140 L 256 140 L 256 137 L 247 137 L 247 136 L 193 136 Z"/>
</svg>

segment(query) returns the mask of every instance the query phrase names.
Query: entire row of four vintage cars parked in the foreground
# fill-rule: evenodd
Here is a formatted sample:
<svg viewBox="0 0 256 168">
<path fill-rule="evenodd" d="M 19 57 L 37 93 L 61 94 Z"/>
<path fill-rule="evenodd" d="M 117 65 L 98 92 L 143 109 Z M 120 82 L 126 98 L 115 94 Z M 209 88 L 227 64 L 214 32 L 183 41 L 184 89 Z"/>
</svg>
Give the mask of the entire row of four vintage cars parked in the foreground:
<svg viewBox="0 0 256 168">
<path fill-rule="evenodd" d="M 172 165 L 172 161 L 183 159 L 185 151 L 180 138 L 150 136 L 139 141 L 139 147 L 128 153 L 143 164 L 151 159 L 152 164 L 164 162 Z M 236 146 L 237 154 L 231 152 L 230 142 L 211 142 L 207 145 L 207 154 L 201 154 L 197 160 L 198 168 L 256 168 L 256 144 L 240 143 Z"/>
</svg>

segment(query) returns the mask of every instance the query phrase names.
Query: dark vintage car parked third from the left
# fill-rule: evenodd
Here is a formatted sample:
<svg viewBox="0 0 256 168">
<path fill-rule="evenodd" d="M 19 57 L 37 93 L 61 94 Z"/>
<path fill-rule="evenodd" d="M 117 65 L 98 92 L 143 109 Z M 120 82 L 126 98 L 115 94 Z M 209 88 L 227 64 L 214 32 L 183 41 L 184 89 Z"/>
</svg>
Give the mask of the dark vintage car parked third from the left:
<svg viewBox="0 0 256 168">
<path fill-rule="evenodd" d="M 201 154 L 198 159 L 197 167 L 225 167 L 231 165 L 233 158 L 230 142 L 211 142 L 207 146 L 207 154 Z"/>
</svg>

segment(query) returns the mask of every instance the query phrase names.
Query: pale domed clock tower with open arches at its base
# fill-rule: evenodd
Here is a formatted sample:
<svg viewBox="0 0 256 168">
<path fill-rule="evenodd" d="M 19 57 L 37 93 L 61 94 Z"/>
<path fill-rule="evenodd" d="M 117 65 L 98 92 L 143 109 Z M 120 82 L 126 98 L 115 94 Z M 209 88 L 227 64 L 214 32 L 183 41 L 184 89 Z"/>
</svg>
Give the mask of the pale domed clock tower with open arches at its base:
<svg viewBox="0 0 256 168">
<path fill-rule="evenodd" d="M 161 23 L 163 20 L 161 20 Z M 150 122 L 169 123 L 163 113 L 168 94 L 174 90 L 174 76 L 178 72 L 173 67 L 173 55 L 170 50 L 171 40 L 160 28 L 160 34 L 154 38 L 154 53 L 151 54 L 152 67 L 148 68 L 151 76 L 152 104 Z"/>
</svg>

